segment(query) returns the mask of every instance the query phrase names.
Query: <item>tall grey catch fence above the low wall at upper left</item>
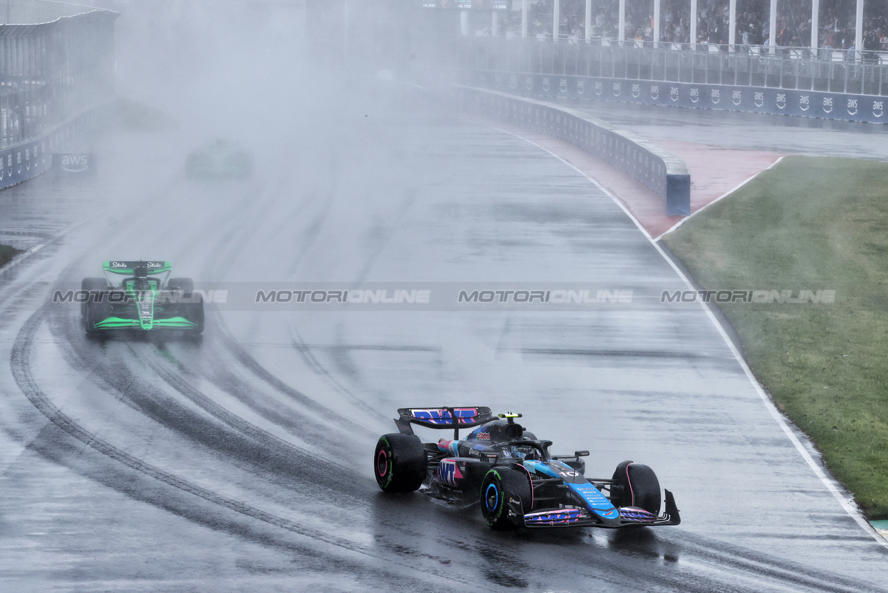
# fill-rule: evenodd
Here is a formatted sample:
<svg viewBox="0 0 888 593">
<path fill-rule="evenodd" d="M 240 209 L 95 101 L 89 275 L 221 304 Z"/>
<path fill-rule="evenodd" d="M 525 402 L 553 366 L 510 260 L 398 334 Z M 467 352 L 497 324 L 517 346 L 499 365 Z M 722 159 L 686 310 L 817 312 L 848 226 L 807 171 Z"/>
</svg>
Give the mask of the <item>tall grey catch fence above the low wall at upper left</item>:
<svg viewBox="0 0 888 593">
<path fill-rule="evenodd" d="M 48 170 L 52 152 L 92 127 L 114 92 L 116 12 L 28 2 L 10 12 L 59 16 L 0 25 L 0 189 Z"/>
</svg>

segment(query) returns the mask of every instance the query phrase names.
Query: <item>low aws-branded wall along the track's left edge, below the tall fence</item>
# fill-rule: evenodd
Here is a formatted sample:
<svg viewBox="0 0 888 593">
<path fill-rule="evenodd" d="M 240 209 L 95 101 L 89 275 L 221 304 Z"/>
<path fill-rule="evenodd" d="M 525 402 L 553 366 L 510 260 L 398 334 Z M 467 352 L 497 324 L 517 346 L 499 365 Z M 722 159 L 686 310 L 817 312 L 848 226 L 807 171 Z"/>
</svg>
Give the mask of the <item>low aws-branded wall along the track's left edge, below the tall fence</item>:
<svg viewBox="0 0 888 593">
<path fill-rule="evenodd" d="M 79 138 L 97 122 L 92 109 L 28 142 L 0 149 L 0 189 L 14 186 L 45 173 L 52 166 L 52 153 L 73 138 Z"/>
</svg>

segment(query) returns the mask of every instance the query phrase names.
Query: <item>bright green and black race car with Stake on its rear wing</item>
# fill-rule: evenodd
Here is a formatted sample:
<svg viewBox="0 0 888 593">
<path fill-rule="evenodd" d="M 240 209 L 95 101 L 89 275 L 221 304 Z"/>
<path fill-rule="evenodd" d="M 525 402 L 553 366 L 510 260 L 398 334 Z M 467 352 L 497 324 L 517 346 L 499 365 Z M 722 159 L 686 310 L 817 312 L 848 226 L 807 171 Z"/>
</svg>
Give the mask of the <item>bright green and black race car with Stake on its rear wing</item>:
<svg viewBox="0 0 888 593">
<path fill-rule="evenodd" d="M 203 299 L 190 278 L 170 278 L 170 262 L 108 261 L 104 278 L 84 278 L 81 304 L 89 336 L 118 330 L 139 332 L 178 329 L 203 331 Z"/>
</svg>

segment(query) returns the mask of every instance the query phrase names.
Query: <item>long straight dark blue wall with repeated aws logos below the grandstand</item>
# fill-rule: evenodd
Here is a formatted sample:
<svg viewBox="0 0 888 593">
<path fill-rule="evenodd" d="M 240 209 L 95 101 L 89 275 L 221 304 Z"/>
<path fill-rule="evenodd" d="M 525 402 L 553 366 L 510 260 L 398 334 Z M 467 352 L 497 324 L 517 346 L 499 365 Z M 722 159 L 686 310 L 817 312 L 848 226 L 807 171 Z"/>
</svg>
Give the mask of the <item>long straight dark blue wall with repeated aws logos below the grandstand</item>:
<svg viewBox="0 0 888 593">
<path fill-rule="evenodd" d="M 516 75 L 489 71 L 466 71 L 463 82 L 482 89 L 542 99 L 619 101 L 760 114 L 805 115 L 852 122 L 888 121 L 888 115 L 885 115 L 888 111 L 888 99 L 875 95 L 590 76 Z"/>
</svg>

